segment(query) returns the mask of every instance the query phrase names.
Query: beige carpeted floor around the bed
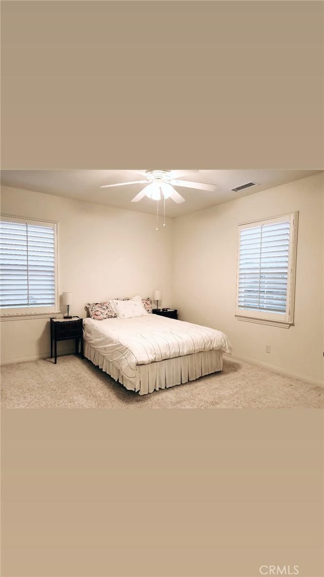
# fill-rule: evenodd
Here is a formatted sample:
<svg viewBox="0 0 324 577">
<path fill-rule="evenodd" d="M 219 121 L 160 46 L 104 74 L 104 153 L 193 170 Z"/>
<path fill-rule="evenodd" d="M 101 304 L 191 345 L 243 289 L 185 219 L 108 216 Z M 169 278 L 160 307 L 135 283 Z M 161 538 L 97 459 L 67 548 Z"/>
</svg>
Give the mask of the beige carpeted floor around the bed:
<svg viewBox="0 0 324 577">
<path fill-rule="evenodd" d="M 321 408 L 323 387 L 257 365 L 224 360 L 223 371 L 150 395 L 126 391 L 74 355 L 4 365 L 7 409 L 282 409 Z"/>
</svg>

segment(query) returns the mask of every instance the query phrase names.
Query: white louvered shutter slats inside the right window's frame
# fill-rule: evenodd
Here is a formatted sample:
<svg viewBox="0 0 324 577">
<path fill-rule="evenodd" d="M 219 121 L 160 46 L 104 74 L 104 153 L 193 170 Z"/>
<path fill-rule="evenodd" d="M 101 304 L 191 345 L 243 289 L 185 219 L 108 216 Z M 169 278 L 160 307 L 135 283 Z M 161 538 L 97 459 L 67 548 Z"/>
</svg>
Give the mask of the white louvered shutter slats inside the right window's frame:
<svg viewBox="0 0 324 577">
<path fill-rule="evenodd" d="M 238 308 L 287 311 L 290 221 L 240 230 Z"/>
</svg>

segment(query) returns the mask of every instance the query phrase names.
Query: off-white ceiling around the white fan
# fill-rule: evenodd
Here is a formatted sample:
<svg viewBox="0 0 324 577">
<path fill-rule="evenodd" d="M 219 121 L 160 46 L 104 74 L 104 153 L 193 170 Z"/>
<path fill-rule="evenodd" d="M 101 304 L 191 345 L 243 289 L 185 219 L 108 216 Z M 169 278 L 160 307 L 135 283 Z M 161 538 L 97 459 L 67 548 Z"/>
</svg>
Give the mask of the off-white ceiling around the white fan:
<svg viewBox="0 0 324 577">
<path fill-rule="evenodd" d="M 163 167 L 159 167 L 165 170 Z M 151 169 L 147 169 L 151 170 Z M 175 217 L 215 204 L 255 194 L 273 186 L 306 178 L 321 170 L 188 170 L 186 181 L 206 182 L 216 185 L 214 192 L 180 188 L 175 186 L 186 199 L 185 203 L 175 204 L 170 198 L 165 201 L 166 216 Z M 34 190 L 54 196 L 73 198 L 89 203 L 104 204 L 110 207 L 131 211 L 156 213 L 156 201 L 143 198 L 139 203 L 131 199 L 144 188 L 144 184 L 100 188 L 100 185 L 142 180 L 136 170 L 2 170 L 1 184 L 24 190 Z M 231 192 L 232 188 L 247 182 L 257 182 L 250 190 Z"/>
</svg>

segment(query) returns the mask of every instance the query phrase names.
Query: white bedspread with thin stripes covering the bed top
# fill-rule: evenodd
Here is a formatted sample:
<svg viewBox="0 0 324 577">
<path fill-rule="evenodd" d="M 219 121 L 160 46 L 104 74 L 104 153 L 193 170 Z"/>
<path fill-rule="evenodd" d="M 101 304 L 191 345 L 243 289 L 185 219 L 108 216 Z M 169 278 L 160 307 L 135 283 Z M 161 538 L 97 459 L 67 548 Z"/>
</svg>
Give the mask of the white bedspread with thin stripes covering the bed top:
<svg viewBox="0 0 324 577">
<path fill-rule="evenodd" d="M 106 356 L 129 379 L 137 365 L 201 351 L 231 353 L 223 332 L 157 314 L 132 319 L 84 319 L 84 340 Z"/>
</svg>

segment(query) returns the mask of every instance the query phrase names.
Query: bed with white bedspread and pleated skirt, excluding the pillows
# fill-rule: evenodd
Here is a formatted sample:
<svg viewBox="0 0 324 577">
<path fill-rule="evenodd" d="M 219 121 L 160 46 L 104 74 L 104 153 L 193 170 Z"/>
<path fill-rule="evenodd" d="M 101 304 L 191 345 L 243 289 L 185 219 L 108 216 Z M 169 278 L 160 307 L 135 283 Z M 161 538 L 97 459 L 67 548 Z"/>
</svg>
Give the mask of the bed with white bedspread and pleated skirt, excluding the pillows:
<svg viewBox="0 0 324 577">
<path fill-rule="evenodd" d="M 84 319 L 84 356 L 126 389 L 146 395 L 223 368 L 223 332 L 156 314 Z"/>
</svg>

